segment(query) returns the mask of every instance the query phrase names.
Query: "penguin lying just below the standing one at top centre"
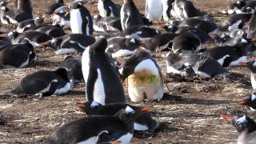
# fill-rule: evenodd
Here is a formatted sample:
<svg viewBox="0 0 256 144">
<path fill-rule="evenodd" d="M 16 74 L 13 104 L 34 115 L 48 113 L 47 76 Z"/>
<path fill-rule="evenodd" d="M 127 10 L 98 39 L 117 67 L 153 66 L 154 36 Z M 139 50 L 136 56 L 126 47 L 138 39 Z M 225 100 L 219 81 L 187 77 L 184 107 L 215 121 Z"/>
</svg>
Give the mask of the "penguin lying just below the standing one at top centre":
<svg viewBox="0 0 256 144">
<path fill-rule="evenodd" d="M 119 36 L 124 38 L 135 38 L 139 41 L 148 41 L 157 34 L 159 34 L 159 31 L 150 28 L 149 26 L 130 26 L 130 28 L 122 30 Z"/>
</svg>

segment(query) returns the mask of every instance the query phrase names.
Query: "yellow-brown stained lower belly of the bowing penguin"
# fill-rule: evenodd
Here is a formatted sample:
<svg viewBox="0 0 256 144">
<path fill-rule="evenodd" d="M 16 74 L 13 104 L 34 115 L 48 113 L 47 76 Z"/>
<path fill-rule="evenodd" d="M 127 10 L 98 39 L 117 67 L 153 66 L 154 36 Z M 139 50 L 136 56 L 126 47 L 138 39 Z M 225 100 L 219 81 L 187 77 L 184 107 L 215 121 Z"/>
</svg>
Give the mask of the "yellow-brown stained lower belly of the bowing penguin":
<svg viewBox="0 0 256 144">
<path fill-rule="evenodd" d="M 128 94 L 132 102 L 144 99 L 161 99 L 163 95 L 162 78 L 149 70 L 142 70 L 128 77 Z"/>
</svg>

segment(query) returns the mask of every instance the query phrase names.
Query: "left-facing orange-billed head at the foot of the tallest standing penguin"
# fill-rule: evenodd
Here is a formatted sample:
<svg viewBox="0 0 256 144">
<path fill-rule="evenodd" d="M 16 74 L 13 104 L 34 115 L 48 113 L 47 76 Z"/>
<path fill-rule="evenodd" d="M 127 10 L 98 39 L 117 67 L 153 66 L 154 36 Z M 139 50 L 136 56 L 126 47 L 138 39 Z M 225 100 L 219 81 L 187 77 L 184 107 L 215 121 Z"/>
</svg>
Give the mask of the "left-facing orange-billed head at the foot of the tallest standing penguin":
<svg viewBox="0 0 256 144">
<path fill-rule="evenodd" d="M 76 106 L 84 110 L 86 114 L 89 114 L 89 115 L 98 115 L 99 110 L 102 109 L 102 104 L 94 101 L 77 103 Z"/>
</svg>

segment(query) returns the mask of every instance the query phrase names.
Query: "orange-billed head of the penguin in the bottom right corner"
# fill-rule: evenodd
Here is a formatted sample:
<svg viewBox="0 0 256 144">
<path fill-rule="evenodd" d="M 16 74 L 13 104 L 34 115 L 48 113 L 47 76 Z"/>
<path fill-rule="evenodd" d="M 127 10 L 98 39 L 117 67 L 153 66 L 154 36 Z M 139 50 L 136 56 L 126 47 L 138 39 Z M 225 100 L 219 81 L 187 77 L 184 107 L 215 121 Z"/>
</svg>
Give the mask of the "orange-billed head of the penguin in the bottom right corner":
<svg viewBox="0 0 256 144">
<path fill-rule="evenodd" d="M 241 134 L 242 132 L 246 132 L 248 134 L 256 130 L 256 123 L 246 115 L 221 115 L 221 118 L 232 122 L 232 125 L 236 128 L 238 134 Z"/>
</svg>

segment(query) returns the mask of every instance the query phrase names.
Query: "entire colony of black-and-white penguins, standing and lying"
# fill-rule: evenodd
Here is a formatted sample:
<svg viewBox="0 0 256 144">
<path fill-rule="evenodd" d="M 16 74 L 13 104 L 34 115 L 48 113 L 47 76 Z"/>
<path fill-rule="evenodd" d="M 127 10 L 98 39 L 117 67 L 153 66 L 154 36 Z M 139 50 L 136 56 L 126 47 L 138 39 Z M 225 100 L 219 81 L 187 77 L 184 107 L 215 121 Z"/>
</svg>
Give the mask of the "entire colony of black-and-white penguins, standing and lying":
<svg viewBox="0 0 256 144">
<path fill-rule="evenodd" d="M 132 104 L 161 101 L 165 75 L 228 78 L 228 67 L 247 67 L 253 90 L 237 105 L 256 111 L 256 1 L 230 1 L 227 10 L 220 10 L 230 14 L 222 26 L 192 0 L 146 0 L 145 15 L 135 1 L 56 0 L 42 17 L 34 15 L 30 0 L 15 0 L 14 7 L 0 2 L 1 26 L 14 27 L 0 29 L 0 69 L 38 66 L 43 50 L 66 55 L 55 70 L 27 74 L 2 95 L 66 95 L 78 84 L 86 86 L 86 102 L 75 105 L 86 116 L 59 126 L 43 143 L 130 143 L 134 131 L 154 133 L 161 122 L 151 117 L 152 108 Z M 97 4 L 98 14 L 87 9 L 91 4 Z M 166 24 L 154 25 L 161 21 Z M 206 49 L 204 44 L 218 46 Z M 158 53 L 166 71 L 158 65 Z M 235 126 L 239 144 L 256 143 L 252 118 L 242 113 L 220 117 Z"/>
</svg>

